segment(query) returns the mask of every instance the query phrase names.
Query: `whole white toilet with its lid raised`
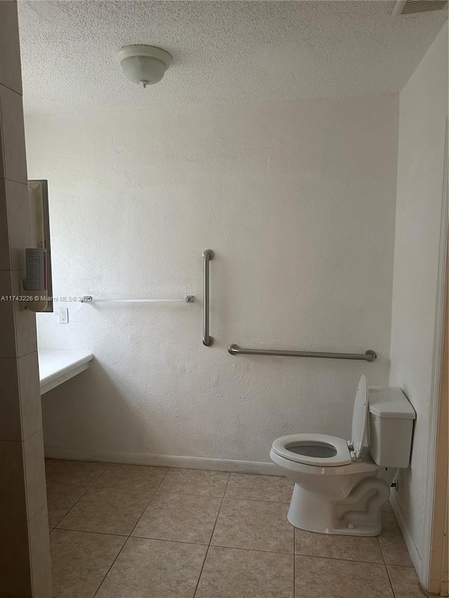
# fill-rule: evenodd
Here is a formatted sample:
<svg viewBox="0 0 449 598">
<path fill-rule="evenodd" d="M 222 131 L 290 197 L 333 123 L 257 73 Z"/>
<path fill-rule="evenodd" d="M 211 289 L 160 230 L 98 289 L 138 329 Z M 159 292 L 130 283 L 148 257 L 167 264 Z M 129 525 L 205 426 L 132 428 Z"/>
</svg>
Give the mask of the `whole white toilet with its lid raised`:
<svg viewBox="0 0 449 598">
<path fill-rule="evenodd" d="M 377 536 L 397 468 L 407 468 L 415 410 L 401 388 L 358 382 L 350 440 L 293 434 L 270 457 L 295 482 L 288 521 L 321 534 Z"/>
</svg>

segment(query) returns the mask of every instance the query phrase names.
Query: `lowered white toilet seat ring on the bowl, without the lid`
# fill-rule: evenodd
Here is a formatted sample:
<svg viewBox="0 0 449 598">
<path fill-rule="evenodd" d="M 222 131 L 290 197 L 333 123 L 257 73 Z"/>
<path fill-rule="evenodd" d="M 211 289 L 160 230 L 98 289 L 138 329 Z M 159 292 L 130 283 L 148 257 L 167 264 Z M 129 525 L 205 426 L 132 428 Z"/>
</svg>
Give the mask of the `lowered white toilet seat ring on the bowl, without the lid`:
<svg viewBox="0 0 449 598">
<path fill-rule="evenodd" d="M 290 434 L 273 442 L 273 451 L 289 461 L 319 467 L 352 463 L 347 440 L 327 434 Z"/>
</svg>

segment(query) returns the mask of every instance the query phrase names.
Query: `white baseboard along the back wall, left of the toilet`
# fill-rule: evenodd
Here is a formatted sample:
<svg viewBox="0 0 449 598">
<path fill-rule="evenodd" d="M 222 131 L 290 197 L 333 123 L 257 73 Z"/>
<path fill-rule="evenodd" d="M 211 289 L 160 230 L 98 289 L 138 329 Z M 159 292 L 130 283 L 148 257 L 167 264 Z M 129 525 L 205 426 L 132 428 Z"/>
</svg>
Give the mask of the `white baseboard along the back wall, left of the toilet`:
<svg viewBox="0 0 449 598">
<path fill-rule="evenodd" d="M 107 463 L 128 463 L 186 469 L 208 469 L 238 473 L 262 473 L 279 475 L 274 463 L 260 461 L 236 461 L 235 459 L 211 459 L 206 457 L 185 457 L 178 455 L 155 455 L 145 453 L 116 453 L 115 451 L 75 450 L 46 447 L 45 456 L 53 459 L 75 461 L 102 461 Z"/>
</svg>

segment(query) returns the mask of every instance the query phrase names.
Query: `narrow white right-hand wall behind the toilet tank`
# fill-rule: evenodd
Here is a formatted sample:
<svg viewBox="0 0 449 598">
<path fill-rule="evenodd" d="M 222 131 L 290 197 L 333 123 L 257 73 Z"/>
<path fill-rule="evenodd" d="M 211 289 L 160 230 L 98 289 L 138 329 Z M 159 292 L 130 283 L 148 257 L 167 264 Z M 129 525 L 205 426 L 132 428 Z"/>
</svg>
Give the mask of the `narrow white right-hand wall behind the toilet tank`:
<svg viewBox="0 0 449 598">
<path fill-rule="evenodd" d="M 447 114 L 445 25 L 400 95 L 390 381 L 403 388 L 417 412 L 411 466 L 401 472 L 396 498 L 418 571 L 428 484 Z"/>
</svg>

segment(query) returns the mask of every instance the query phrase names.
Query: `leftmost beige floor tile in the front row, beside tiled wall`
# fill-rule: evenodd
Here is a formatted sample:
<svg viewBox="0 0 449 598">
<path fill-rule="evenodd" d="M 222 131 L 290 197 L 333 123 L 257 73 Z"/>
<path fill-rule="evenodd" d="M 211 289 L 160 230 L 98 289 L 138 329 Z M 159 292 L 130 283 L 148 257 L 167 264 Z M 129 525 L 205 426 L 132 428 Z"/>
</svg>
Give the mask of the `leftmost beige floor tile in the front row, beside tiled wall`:
<svg viewBox="0 0 449 598">
<path fill-rule="evenodd" d="M 93 598 L 126 538 L 54 529 L 50 534 L 53 596 Z"/>
</svg>

